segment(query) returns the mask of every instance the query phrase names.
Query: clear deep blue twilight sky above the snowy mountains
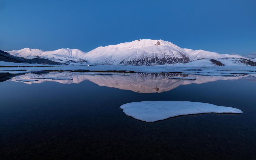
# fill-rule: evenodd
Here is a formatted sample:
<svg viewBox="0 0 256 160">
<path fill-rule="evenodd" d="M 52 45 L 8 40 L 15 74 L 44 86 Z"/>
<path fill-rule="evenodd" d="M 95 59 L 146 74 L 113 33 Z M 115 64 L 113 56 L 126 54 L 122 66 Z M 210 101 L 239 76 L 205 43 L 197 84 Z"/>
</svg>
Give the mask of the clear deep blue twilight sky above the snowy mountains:
<svg viewBox="0 0 256 160">
<path fill-rule="evenodd" d="M 0 0 L 0 50 L 84 52 L 137 39 L 221 54 L 256 52 L 256 1 Z"/>
</svg>

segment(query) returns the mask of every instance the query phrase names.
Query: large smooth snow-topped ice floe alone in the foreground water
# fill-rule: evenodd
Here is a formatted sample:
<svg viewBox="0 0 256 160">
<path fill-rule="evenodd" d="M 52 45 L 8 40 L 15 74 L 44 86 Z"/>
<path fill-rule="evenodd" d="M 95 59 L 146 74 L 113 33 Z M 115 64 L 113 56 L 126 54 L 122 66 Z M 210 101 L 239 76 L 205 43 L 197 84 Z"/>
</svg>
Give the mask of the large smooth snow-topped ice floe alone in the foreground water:
<svg viewBox="0 0 256 160">
<path fill-rule="evenodd" d="M 135 119 L 155 122 L 170 117 L 200 113 L 243 113 L 232 107 L 222 107 L 209 103 L 186 101 L 144 101 L 120 106 L 123 112 Z"/>
</svg>

